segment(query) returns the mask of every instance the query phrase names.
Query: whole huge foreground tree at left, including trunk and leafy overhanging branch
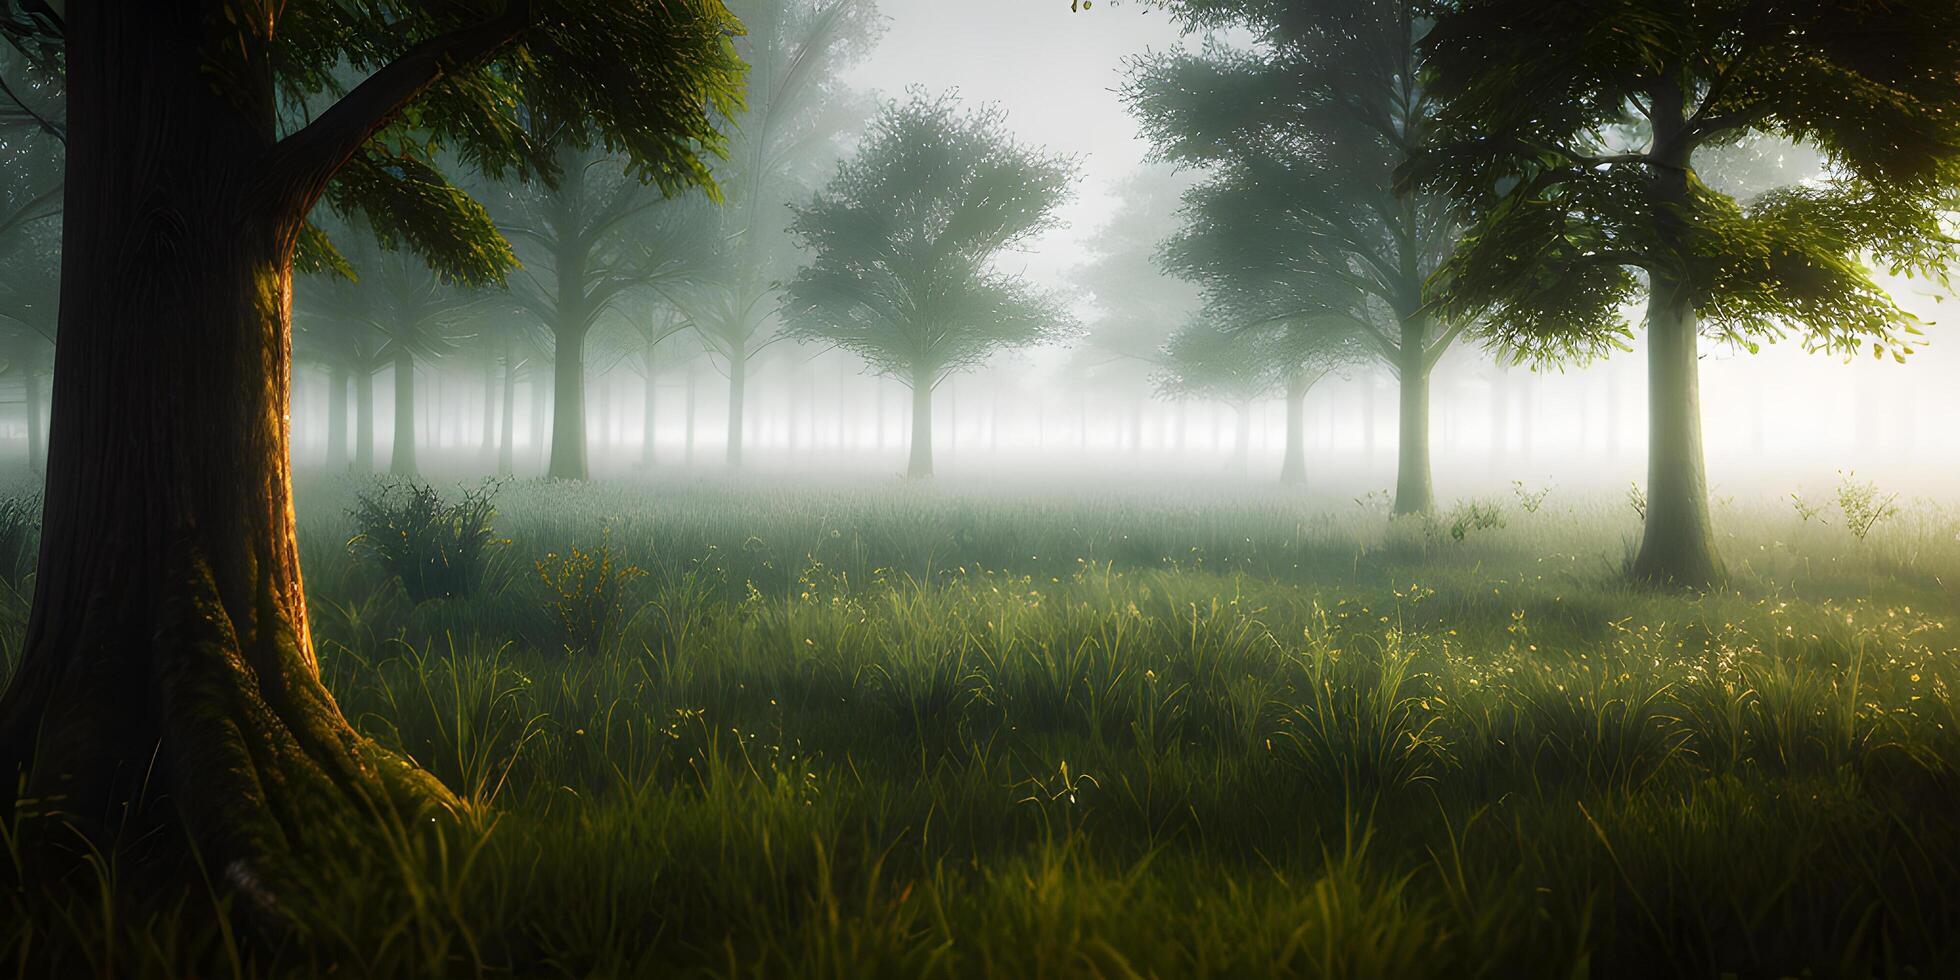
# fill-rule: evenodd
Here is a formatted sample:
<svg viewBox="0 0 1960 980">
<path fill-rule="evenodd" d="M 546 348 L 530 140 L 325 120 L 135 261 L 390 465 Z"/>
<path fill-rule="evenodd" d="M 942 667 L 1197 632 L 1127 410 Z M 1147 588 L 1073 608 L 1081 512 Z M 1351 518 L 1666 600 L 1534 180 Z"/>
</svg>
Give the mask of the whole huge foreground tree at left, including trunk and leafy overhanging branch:
<svg viewBox="0 0 1960 980">
<path fill-rule="evenodd" d="M 302 927 L 280 909 L 308 857 L 365 841 L 374 808 L 455 804 L 341 717 L 314 661 L 290 296 L 296 257 L 337 253 L 306 216 L 327 200 L 494 282 L 510 247 L 439 155 L 549 178 L 517 106 L 553 106 L 655 184 L 708 182 L 737 25 L 713 0 L 8 0 L 0 20 L 65 71 L 69 108 L 41 570 L 0 696 L 0 772 L 25 778 L 0 792 L 84 829 L 174 823 L 153 839 Z"/>
</svg>

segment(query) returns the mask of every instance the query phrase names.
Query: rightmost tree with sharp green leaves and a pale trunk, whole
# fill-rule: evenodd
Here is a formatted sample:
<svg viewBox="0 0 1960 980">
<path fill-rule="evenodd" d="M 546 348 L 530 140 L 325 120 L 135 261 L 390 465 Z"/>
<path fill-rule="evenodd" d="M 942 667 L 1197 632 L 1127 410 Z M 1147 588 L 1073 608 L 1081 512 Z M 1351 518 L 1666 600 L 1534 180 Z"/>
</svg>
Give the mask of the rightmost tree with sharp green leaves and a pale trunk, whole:
<svg viewBox="0 0 1960 980">
<path fill-rule="evenodd" d="M 1446 310 L 1521 357 L 1623 347 L 1646 292 L 1646 529 L 1633 574 L 1721 576 L 1701 451 L 1699 339 L 1903 357 L 1917 333 L 1864 261 L 1942 274 L 1960 186 L 1954 0 L 1460 0 L 1425 41 L 1441 137 L 1411 176 L 1474 220 Z M 1703 151 L 1750 133 L 1827 176 L 1750 200 Z"/>
</svg>

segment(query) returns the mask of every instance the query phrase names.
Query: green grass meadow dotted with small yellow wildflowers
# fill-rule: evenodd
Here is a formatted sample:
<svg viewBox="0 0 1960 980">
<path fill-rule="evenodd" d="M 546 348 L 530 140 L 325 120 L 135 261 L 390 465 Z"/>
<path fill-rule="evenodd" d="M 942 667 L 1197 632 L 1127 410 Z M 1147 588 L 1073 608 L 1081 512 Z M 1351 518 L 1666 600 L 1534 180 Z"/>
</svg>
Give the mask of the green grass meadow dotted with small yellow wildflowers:
<svg viewBox="0 0 1960 980">
<path fill-rule="evenodd" d="M 480 804 L 265 951 L 100 853 L 25 976 L 1944 976 L 1960 515 L 1617 498 L 506 486 L 410 602 L 302 492 L 343 710 Z M 1458 529 L 1462 533 L 1458 533 Z M 566 564 L 572 563 L 572 564 Z M 604 564 L 604 568 L 602 568 Z M 586 594 L 590 592 L 590 594 Z M 18 617 L 22 604 L 0 604 Z M 18 645 L 20 623 L 0 623 Z M 0 843 L 18 841 L 8 827 Z M 10 843 L 10 847 L 14 847 Z"/>
</svg>

